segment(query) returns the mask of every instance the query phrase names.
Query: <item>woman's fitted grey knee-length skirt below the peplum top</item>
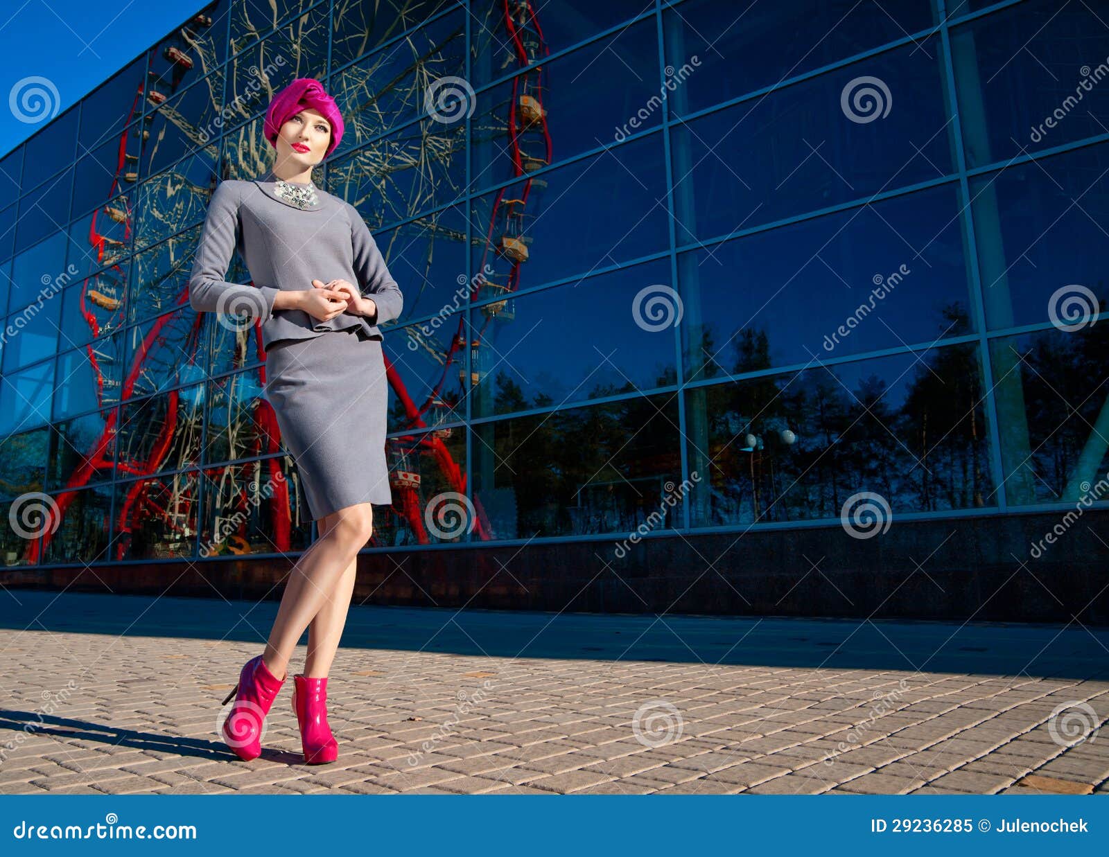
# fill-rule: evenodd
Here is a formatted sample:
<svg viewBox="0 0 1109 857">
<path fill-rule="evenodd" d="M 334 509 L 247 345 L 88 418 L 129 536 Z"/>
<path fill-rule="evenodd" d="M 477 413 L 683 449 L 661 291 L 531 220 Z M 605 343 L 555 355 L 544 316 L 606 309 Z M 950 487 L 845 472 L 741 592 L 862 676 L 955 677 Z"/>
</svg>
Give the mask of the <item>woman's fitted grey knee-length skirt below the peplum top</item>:
<svg viewBox="0 0 1109 857">
<path fill-rule="evenodd" d="M 380 339 L 352 327 L 272 343 L 265 396 L 314 520 L 356 503 L 393 503 Z"/>
</svg>

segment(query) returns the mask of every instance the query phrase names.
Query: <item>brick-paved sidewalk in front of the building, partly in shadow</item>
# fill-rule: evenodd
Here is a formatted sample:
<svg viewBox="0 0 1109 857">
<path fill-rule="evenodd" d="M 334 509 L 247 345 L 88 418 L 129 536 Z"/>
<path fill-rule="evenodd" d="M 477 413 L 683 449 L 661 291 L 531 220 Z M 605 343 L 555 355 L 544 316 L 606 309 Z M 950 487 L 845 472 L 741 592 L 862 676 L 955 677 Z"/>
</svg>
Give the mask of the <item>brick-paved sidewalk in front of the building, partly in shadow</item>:
<svg viewBox="0 0 1109 857">
<path fill-rule="evenodd" d="M 0 590 L 0 793 L 1109 793 L 1106 629 L 357 606 L 308 767 L 216 732 L 276 608 Z"/>
</svg>

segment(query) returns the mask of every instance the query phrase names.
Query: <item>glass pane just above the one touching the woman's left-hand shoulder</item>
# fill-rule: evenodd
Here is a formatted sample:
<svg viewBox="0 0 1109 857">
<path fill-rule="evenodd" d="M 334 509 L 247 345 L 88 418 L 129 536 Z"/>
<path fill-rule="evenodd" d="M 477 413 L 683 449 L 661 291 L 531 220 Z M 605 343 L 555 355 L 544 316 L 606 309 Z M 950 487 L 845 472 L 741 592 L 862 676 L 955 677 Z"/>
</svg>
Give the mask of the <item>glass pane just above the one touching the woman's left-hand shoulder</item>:
<svg viewBox="0 0 1109 857">
<path fill-rule="evenodd" d="M 144 153 L 142 177 L 154 175 L 177 163 L 190 152 L 215 173 L 220 149 L 220 104 L 223 99 L 223 71 L 210 74 L 184 92 L 166 100 L 147 116 L 151 142 Z M 197 151 L 199 150 L 199 151 Z M 177 167 L 181 172 L 182 167 Z"/>
</svg>

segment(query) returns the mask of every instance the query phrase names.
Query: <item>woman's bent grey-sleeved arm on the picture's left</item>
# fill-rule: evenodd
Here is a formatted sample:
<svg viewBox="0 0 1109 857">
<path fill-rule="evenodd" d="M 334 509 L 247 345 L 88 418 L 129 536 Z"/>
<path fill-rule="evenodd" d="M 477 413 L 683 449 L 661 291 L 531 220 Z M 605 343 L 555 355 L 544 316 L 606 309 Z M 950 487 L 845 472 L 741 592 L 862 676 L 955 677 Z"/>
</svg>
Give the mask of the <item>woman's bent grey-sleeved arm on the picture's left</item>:
<svg viewBox="0 0 1109 857">
<path fill-rule="evenodd" d="M 251 318 L 261 317 L 267 322 L 273 317 L 279 288 L 224 279 L 238 235 L 240 200 L 237 183 L 216 185 L 189 278 L 189 305 L 197 312 L 237 314 L 246 310 Z"/>
</svg>

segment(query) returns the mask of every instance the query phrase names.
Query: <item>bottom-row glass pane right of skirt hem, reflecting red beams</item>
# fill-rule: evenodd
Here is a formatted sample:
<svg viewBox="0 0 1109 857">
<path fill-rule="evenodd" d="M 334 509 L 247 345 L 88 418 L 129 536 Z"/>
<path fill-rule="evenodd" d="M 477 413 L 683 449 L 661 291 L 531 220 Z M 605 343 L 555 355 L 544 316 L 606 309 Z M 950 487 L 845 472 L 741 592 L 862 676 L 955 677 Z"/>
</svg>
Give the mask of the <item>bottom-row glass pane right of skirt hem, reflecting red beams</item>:
<svg viewBox="0 0 1109 857">
<path fill-rule="evenodd" d="M 444 428 L 387 438 L 393 507 L 374 512 L 372 545 L 464 542 L 475 526 L 466 493 L 466 432 Z M 431 526 L 429 526 L 431 524 Z"/>
</svg>

